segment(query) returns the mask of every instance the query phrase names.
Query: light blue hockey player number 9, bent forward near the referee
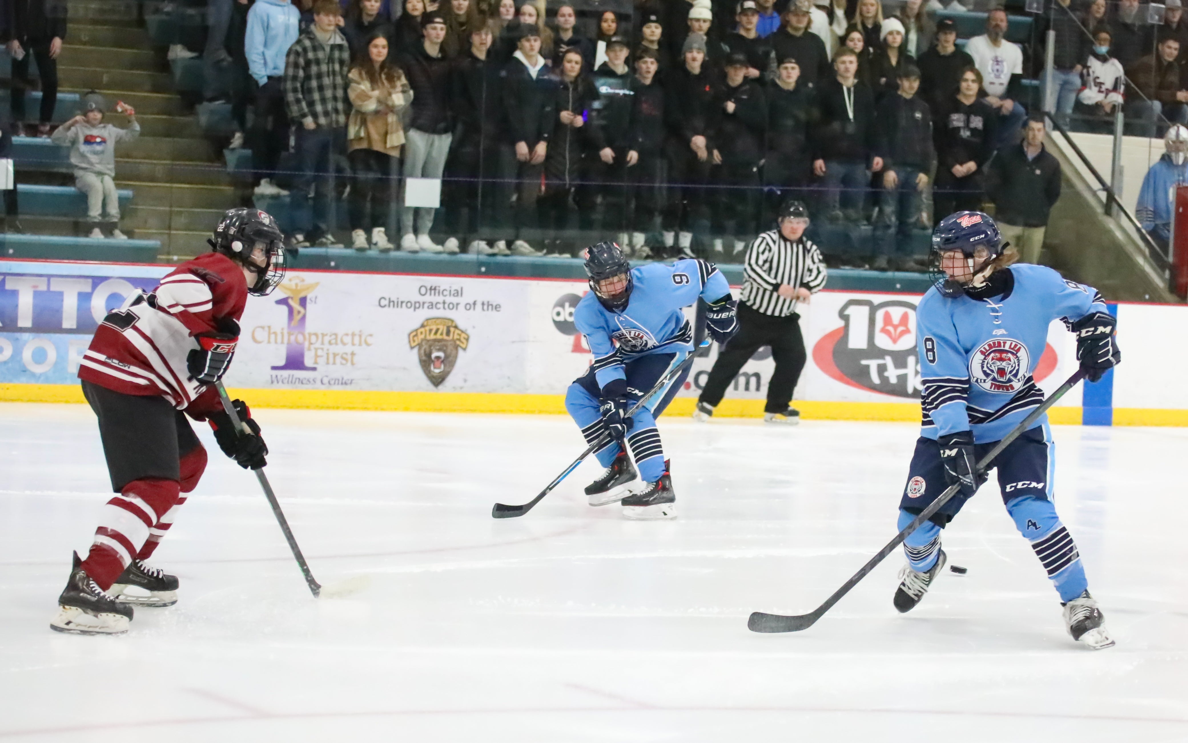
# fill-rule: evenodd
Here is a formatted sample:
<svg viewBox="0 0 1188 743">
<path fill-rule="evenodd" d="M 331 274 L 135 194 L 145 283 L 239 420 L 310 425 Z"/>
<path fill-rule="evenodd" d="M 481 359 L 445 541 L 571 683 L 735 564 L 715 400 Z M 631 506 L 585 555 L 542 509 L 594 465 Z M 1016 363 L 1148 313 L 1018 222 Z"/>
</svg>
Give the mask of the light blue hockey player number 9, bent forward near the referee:
<svg viewBox="0 0 1188 743">
<path fill-rule="evenodd" d="M 611 442 L 595 452 L 606 472 L 586 495 L 590 505 L 623 500 L 627 518 L 675 518 L 676 495 L 656 418 L 688 372 L 633 416 L 627 411 L 693 351 L 693 326 L 682 308 L 706 300 L 709 334 L 720 344 L 729 339 L 737 327 L 731 287 L 714 264 L 701 259 L 632 269 L 614 243 L 587 251 L 586 272 L 590 291 L 574 309 L 574 325 L 586 335 L 594 363 L 569 385 L 565 409 L 589 443 L 611 433 Z M 627 484 L 636 479 L 643 479 L 643 487 L 628 495 Z"/>
</svg>

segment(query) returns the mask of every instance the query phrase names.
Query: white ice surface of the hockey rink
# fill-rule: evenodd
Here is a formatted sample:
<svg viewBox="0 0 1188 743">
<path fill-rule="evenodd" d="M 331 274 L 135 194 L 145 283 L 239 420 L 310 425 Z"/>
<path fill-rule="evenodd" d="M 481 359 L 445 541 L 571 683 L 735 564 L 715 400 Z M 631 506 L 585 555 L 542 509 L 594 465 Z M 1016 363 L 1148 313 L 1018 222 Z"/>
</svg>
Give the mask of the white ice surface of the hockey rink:
<svg viewBox="0 0 1188 743">
<path fill-rule="evenodd" d="M 680 518 L 584 504 L 568 418 L 259 410 L 268 477 L 311 598 L 255 478 L 208 430 L 207 474 L 152 562 L 181 600 L 121 637 L 52 632 L 72 549 L 108 498 L 84 405 L 0 404 L 0 739 L 1186 741 L 1188 430 L 1055 427 L 1057 506 L 1117 647 L 1060 604 L 987 485 L 944 533 L 909 615 L 895 535 L 918 428 L 661 418 Z M 359 577 L 366 577 L 360 579 Z"/>
</svg>

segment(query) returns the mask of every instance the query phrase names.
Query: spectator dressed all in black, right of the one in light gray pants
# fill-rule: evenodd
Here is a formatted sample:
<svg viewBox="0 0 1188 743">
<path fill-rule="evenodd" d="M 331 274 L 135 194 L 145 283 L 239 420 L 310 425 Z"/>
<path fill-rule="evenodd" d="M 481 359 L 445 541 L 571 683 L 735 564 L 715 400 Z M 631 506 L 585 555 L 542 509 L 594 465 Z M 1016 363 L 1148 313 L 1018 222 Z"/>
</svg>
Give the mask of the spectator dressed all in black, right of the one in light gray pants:
<svg viewBox="0 0 1188 743">
<path fill-rule="evenodd" d="M 462 52 L 450 70 L 450 100 L 454 102 L 454 141 L 446 165 L 451 196 L 446 203 L 446 222 L 467 244 L 467 252 L 489 256 L 495 252 L 489 240 L 506 240 L 499 231 L 500 201 L 499 151 L 505 139 L 503 65 L 493 58 L 494 24 L 479 26 L 470 33 L 470 48 Z M 514 174 L 511 174 L 514 176 Z"/>
</svg>

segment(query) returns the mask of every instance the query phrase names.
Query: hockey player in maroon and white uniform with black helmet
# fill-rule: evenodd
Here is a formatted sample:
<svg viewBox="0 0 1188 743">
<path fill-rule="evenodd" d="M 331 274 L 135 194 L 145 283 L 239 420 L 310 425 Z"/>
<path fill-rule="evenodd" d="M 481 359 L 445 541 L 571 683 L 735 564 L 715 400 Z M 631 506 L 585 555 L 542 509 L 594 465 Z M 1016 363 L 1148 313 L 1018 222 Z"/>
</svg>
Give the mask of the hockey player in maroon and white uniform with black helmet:
<svg viewBox="0 0 1188 743">
<path fill-rule="evenodd" d="M 78 367 L 116 495 L 87 559 L 75 553 L 55 630 L 126 632 L 133 604 L 177 603 L 177 578 L 144 561 L 207 465 L 187 416 L 207 421 L 241 467 L 265 464 L 268 449 L 247 405 L 234 402 L 251 430 L 239 435 L 214 383 L 230 366 L 247 295 L 267 295 L 284 278 L 280 229 L 264 212 L 230 209 L 209 243 L 211 252 L 108 313 Z"/>
</svg>

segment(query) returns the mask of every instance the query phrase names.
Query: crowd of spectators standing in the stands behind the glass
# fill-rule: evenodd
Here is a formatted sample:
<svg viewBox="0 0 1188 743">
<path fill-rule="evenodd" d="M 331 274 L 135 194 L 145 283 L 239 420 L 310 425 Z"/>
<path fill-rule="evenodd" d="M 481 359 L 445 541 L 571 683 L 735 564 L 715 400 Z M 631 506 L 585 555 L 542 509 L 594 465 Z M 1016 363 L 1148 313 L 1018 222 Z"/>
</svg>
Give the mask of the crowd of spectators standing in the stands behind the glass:
<svg viewBox="0 0 1188 743">
<path fill-rule="evenodd" d="M 49 1 L 7 2 L 26 8 L 10 13 L 11 30 L 25 19 L 10 50 L 39 64 L 65 33 L 64 15 L 38 20 Z M 1118 106 L 1152 131 L 1188 121 L 1180 0 L 1159 24 L 1137 0 L 1049 2 L 1045 109 L 1094 131 Z M 208 78 L 226 81 L 210 97 L 229 99 L 257 202 L 287 200 L 297 248 L 339 245 L 348 225 L 361 251 L 571 256 L 609 235 L 640 258 L 741 260 L 796 196 L 816 221 L 873 227 L 865 263 L 886 269 L 910 267 L 914 233 L 956 209 L 1011 202 L 1037 226 L 1006 184 L 1043 153 L 1024 80 L 1044 50 L 1006 40 L 1003 8 L 959 42 L 936 11 L 966 8 L 937 0 L 624 7 L 209 0 Z M 1048 203 L 1043 155 L 1032 193 Z"/>
</svg>

